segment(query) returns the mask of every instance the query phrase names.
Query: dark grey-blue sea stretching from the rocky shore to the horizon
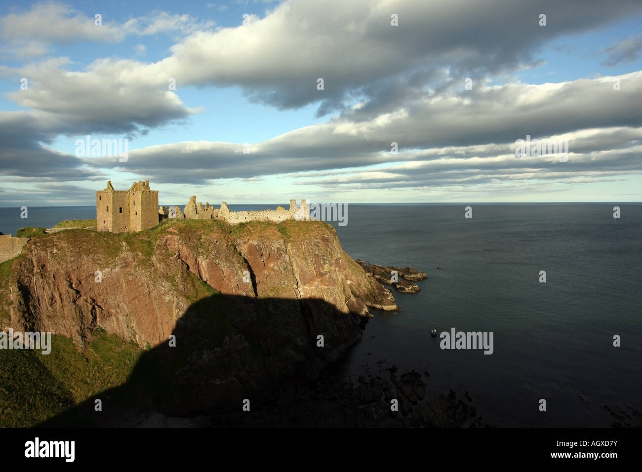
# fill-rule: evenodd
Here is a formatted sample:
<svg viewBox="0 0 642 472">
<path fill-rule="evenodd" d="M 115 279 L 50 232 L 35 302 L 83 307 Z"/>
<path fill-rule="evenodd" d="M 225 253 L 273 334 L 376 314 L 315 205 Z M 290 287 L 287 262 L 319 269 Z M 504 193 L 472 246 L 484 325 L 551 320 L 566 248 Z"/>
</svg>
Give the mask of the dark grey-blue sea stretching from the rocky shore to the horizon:
<svg viewBox="0 0 642 472">
<path fill-rule="evenodd" d="M 347 225 L 329 223 L 349 256 L 410 266 L 428 279 L 417 282 L 418 293 L 392 289 L 401 311 L 371 310 L 363 339 L 335 366 L 340 375 L 388 378 L 391 365 L 397 375 L 425 372 L 428 396 L 467 392 L 494 426 L 609 427 L 620 421 L 612 412 L 629 421 L 642 411 L 642 204 L 347 209 Z M 95 211 L 29 207 L 21 219 L 18 207 L 0 208 L 0 231 L 15 235 Z M 492 354 L 441 349 L 433 328 L 492 332 Z"/>
</svg>

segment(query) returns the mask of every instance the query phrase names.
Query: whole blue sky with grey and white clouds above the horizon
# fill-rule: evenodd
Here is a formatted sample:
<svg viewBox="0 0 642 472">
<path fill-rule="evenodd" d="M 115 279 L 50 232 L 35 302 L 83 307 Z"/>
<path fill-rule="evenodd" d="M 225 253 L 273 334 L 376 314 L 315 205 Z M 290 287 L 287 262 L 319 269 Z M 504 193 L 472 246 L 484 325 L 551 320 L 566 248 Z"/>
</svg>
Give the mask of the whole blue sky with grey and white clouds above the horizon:
<svg viewBox="0 0 642 472">
<path fill-rule="evenodd" d="M 641 25 L 639 0 L 4 1 L 0 206 L 107 180 L 161 205 L 640 202 Z"/>
</svg>

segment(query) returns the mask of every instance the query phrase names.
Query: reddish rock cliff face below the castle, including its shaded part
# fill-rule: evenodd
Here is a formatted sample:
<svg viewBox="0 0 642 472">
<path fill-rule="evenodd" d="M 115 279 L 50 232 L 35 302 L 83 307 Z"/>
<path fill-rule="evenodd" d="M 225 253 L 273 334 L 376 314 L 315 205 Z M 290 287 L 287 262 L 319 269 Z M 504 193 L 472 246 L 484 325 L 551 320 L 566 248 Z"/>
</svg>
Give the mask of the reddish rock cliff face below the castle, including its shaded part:
<svg viewBox="0 0 642 472">
<path fill-rule="evenodd" d="M 171 386 L 159 402 L 172 414 L 238 405 L 313 376 L 361 338 L 367 306 L 397 308 L 323 222 L 61 231 L 32 238 L 6 264 L 0 328 L 51 331 L 82 351 L 100 327 L 164 349 Z M 189 349 L 168 348 L 172 334 Z"/>
</svg>

